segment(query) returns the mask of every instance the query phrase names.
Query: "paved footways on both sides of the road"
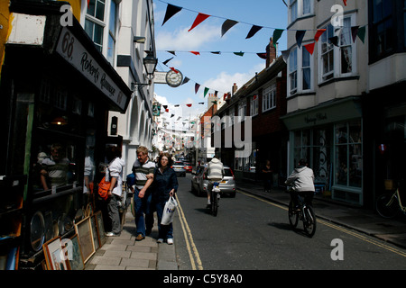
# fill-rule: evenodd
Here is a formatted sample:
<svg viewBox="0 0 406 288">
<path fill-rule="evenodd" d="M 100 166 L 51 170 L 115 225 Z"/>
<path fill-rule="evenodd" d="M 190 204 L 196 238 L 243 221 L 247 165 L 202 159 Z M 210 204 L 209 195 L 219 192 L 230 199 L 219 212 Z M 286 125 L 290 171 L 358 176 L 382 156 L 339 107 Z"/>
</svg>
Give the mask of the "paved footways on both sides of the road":
<svg viewBox="0 0 406 288">
<path fill-rule="evenodd" d="M 288 206 L 290 195 L 282 189 L 263 191 L 262 183 L 237 183 L 237 190 L 250 193 L 270 202 Z M 383 219 L 375 211 L 338 203 L 315 195 L 313 207 L 319 219 L 354 229 L 380 238 L 401 248 L 406 248 L 406 217 Z M 125 212 L 125 223 L 119 237 L 107 237 L 106 244 L 97 249 L 86 270 L 178 270 L 175 245 L 158 244 L 158 226 L 150 236 L 135 241 L 135 222 L 131 211 Z M 176 238 L 174 239 L 176 242 Z"/>
</svg>

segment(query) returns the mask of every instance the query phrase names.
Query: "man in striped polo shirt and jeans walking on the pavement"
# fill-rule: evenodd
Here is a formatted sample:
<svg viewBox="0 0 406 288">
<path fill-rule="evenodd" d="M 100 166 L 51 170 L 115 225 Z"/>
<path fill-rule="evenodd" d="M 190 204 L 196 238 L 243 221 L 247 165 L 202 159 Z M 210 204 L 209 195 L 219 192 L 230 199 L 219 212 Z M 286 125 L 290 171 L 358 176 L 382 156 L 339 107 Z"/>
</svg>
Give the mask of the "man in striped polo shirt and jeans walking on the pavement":
<svg viewBox="0 0 406 288">
<path fill-rule="evenodd" d="M 134 208 L 137 237 L 140 241 L 149 235 L 153 226 L 152 193 L 148 189 L 153 182 L 155 164 L 148 158 L 148 148 L 137 148 L 137 159 L 133 165 L 135 175 Z M 145 214 L 145 218 L 144 215 Z"/>
</svg>

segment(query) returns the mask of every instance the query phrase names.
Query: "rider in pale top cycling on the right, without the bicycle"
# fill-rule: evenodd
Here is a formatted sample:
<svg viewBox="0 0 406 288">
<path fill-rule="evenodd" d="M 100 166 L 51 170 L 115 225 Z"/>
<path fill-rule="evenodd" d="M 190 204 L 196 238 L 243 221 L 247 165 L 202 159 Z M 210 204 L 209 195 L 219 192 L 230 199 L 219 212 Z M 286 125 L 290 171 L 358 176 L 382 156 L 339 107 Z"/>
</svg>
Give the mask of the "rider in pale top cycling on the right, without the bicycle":
<svg viewBox="0 0 406 288">
<path fill-rule="evenodd" d="M 312 205 L 314 188 L 314 173 L 308 167 L 308 161 L 305 158 L 299 160 L 299 165 L 293 170 L 291 175 L 286 179 L 285 184 L 291 185 L 291 200 L 295 207 L 299 205 L 298 194 L 304 196 L 304 202 Z"/>
</svg>

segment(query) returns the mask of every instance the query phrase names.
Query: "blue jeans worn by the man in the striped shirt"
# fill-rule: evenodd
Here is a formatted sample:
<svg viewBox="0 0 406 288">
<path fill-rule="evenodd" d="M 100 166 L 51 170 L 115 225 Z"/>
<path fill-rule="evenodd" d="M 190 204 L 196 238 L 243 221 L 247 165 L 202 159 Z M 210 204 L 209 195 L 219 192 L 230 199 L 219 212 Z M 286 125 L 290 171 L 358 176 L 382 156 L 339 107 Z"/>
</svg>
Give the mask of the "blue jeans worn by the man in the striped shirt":
<svg viewBox="0 0 406 288">
<path fill-rule="evenodd" d="M 137 235 L 141 234 L 144 237 L 145 226 L 147 230 L 151 230 L 153 227 L 152 193 L 147 190 L 143 198 L 139 198 L 138 193 L 140 193 L 139 190 L 134 187 L 135 226 Z"/>
</svg>

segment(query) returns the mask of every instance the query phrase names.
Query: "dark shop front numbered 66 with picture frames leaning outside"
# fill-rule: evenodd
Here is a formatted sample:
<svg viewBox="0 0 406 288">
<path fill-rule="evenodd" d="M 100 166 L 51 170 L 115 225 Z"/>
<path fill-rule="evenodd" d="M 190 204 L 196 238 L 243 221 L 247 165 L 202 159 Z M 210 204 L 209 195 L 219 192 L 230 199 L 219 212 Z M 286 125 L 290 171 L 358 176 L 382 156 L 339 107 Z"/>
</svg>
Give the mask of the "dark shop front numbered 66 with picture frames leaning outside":
<svg viewBox="0 0 406 288">
<path fill-rule="evenodd" d="M 106 145 L 121 145 L 106 137 L 107 112 L 125 112 L 132 92 L 75 19 L 63 27 L 59 9 L 21 9 L 0 84 L 0 254 L 41 269 L 42 245 L 72 237 L 88 203 L 96 209 Z"/>
</svg>

